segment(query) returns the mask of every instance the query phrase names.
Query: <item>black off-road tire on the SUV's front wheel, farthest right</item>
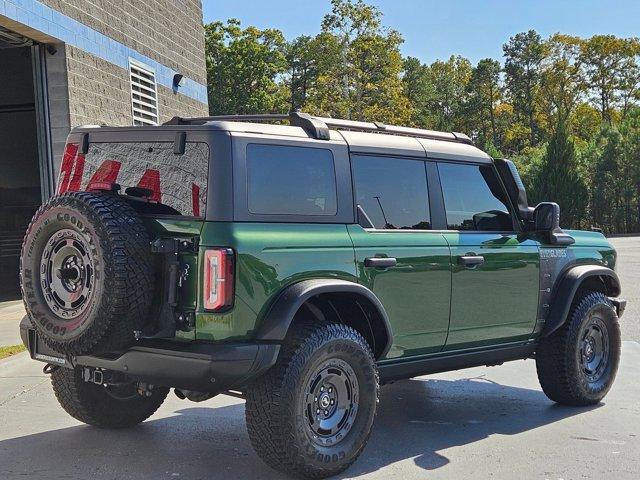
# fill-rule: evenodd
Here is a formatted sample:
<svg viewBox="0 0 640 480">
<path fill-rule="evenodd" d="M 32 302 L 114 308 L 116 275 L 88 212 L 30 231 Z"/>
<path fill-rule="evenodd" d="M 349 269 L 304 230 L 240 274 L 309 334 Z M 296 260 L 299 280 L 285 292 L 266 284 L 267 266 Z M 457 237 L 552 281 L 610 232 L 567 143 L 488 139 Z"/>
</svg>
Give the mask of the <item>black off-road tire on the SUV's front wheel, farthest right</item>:
<svg viewBox="0 0 640 480">
<path fill-rule="evenodd" d="M 585 354 L 583 336 L 594 321 L 606 329 L 608 342 L 607 363 L 597 379 L 589 378 L 582 363 Z M 565 324 L 545 338 L 536 352 L 542 390 L 554 402 L 572 406 L 600 402 L 613 384 L 619 361 L 618 316 L 611 301 L 600 292 L 578 292 Z"/>
</svg>

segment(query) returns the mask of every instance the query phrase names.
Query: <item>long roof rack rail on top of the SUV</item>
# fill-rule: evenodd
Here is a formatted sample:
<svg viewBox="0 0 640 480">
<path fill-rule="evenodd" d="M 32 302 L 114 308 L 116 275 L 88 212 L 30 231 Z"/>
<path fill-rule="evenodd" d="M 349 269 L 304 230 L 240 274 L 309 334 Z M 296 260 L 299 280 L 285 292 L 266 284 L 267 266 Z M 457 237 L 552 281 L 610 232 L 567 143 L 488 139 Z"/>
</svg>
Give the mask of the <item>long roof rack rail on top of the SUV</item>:
<svg viewBox="0 0 640 480">
<path fill-rule="evenodd" d="M 181 118 L 173 117 L 164 125 L 204 125 L 207 122 L 276 122 L 288 121 L 291 126 L 301 127 L 311 137 L 317 140 L 329 140 L 330 128 L 354 132 L 386 133 L 403 137 L 425 138 L 430 140 L 444 140 L 447 142 L 466 143 L 473 145 L 473 140 L 464 133 L 438 132 L 421 128 L 385 125 L 380 122 L 360 122 L 356 120 L 342 120 L 339 118 L 314 117 L 307 113 L 291 112 L 269 113 L 256 115 L 217 115 L 212 117 Z"/>
</svg>

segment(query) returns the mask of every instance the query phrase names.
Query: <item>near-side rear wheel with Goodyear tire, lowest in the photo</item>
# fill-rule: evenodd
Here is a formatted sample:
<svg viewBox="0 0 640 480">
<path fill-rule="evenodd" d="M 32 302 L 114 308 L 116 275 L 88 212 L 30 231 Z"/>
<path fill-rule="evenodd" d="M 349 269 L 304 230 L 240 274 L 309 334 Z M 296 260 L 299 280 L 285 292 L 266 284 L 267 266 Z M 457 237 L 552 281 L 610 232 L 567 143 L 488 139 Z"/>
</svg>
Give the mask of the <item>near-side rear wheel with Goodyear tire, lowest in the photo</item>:
<svg viewBox="0 0 640 480">
<path fill-rule="evenodd" d="M 247 390 L 247 429 L 271 467 L 325 478 L 347 469 L 364 449 L 378 404 L 378 372 L 354 329 L 293 328 L 276 365 Z"/>
</svg>

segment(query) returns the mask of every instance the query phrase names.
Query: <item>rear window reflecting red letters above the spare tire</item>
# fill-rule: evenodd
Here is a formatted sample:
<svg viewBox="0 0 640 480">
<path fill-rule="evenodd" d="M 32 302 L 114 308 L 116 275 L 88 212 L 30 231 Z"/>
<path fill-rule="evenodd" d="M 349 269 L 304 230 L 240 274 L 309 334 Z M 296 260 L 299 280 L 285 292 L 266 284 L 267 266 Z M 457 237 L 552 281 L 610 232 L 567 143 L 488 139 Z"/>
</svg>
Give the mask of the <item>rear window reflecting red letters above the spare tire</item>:
<svg viewBox="0 0 640 480">
<path fill-rule="evenodd" d="M 200 217 L 207 202 L 209 146 L 187 143 L 185 153 L 173 153 L 173 143 L 92 143 L 86 155 L 67 145 L 58 193 L 109 188 L 117 183 L 151 192 L 150 201 L 167 213 Z"/>
</svg>

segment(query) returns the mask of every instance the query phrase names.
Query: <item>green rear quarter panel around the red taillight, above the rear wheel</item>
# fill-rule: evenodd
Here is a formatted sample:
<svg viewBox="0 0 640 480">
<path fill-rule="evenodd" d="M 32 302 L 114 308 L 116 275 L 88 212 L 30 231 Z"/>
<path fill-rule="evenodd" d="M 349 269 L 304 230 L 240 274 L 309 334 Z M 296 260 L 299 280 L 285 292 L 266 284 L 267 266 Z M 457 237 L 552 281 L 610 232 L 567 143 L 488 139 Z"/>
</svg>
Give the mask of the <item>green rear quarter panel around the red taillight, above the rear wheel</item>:
<svg viewBox="0 0 640 480">
<path fill-rule="evenodd" d="M 236 291 L 227 312 L 214 314 L 198 307 L 196 338 L 200 340 L 250 339 L 275 297 L 292 283 L 310 278 L 357 282 L 345 225 L 207 222 L 201 239 L 200 263 L 207 247 L 233 248 Z M 200 274 L 202 268 L 200 264 Z"/>
</svg>

